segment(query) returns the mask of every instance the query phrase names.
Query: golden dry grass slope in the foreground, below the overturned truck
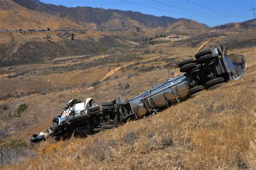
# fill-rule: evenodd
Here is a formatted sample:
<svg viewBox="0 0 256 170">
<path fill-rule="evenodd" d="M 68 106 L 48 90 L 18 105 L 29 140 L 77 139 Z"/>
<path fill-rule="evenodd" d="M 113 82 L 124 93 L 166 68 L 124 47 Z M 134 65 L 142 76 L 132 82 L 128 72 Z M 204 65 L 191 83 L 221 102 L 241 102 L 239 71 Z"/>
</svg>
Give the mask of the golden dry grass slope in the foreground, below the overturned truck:
<svg viewBox="0 0 256 170">
<path fill-rule="evenodd" d="M 256 65 L 251 59 L 238 81 L 118 129 L 57 144 L 46 141 L 36 147 L 36 158 L 4 168 L 255 169 Z M 43 153 L 45 148 L 51 149 Z"/>
</svg>

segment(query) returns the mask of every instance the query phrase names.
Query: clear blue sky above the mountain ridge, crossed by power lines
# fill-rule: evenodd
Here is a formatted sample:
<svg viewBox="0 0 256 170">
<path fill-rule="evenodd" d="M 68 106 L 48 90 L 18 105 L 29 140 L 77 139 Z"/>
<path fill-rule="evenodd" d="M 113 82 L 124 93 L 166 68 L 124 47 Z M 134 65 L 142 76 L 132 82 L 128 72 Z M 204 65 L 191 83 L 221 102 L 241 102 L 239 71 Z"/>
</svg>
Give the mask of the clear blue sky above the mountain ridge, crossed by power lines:
<svg viewBox="0 0 256 170">
<path fill-rule="evenodd" d="M 215 26 L 253 19 L 256 0 L 40 0 L 43 3 L 68 7 L 92 6 L 93 8 L 139 11 L 154 16 L 187 18 Z M 126 1 L 126 2 L 125 2 Z M 200 5 L 200 6 L 199 6 Z M 204 8 L 205 7 L 205 8 Z"/>
</svg>

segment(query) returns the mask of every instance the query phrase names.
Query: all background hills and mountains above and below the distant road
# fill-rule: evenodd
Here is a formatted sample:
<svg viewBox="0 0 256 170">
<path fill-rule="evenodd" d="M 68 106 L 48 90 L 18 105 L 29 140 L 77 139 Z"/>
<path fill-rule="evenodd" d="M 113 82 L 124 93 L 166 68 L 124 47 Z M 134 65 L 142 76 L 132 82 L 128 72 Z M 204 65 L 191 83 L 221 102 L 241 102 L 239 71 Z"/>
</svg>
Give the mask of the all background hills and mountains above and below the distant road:
<svg viewBox="0 0 256 170">
<path fill-rule="evenodd" d="M 144 38 L 150 39 L 156 34 L 190 36 L 209 31 L 197 22 L 182 18 L 91 7 L 67 8 L 38 0 L 1 0 L 0 14 L 0 30 L 89 30 L 1 33 L 0 60 L 4 61 L 0 63 L 1 66 L 38 62 L 58 56 L 106 52 L 114 47 L 138 44 Z M 75 34 L 73 41 L 70 40 L 72 33 Z"/>
</svg>

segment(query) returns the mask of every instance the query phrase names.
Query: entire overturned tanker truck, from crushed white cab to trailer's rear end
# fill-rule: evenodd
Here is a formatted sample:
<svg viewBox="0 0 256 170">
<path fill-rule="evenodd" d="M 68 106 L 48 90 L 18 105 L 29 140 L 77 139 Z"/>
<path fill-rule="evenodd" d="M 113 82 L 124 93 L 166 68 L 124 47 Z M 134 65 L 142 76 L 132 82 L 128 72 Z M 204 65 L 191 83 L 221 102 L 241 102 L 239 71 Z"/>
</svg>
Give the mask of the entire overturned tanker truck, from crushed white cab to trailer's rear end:
<svg viewBox="0 0 256 170">
<path fill-rule="evenodd" d="M 241 54 L 227 55 L 227 47 L 213 47 L 198 52 L 196 60 L 186 59 L 178 63 L 183 75 L 166 82 L 130 100 L 118 97 L 104 102 L 101 107 L 92 98 L 85 102 L 71 100 L 62 114 L 53 119 L 47 132 L 33 134 L 31 142 L 44 140 L 49 135 L 65 139 L 72 135 L 86 137 L 129 121 L 157 114 L 171 105 L 192 98 L 204 89 L 214 89 L 221 84 L 237 80 L 246 72 L 246 60 Z"/>
</svg>

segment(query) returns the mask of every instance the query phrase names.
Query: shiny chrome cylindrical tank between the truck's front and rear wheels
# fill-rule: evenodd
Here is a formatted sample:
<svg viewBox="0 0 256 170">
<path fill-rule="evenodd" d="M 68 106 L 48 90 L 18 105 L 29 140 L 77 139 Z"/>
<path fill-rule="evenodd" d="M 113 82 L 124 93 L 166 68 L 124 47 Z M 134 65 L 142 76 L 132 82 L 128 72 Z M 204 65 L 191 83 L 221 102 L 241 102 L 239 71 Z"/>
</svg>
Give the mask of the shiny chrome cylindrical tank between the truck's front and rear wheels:
<svg viewBox="0 0 256 170">
<path fill-rule="evenodd" d="M 167 79 L 163 84 L 154 87 L 145 93 L 132 98 L 125 103 L 130 103 L 132 111 L 138 116 L 144 116 L 154 109 L 169 107 L 170 103 L 176 102 L 187 95 L 188 80 L 184 75 Z"/>
</svg>

